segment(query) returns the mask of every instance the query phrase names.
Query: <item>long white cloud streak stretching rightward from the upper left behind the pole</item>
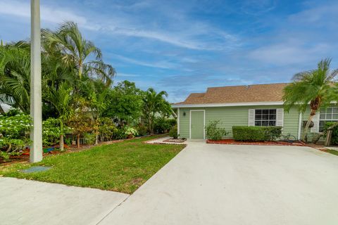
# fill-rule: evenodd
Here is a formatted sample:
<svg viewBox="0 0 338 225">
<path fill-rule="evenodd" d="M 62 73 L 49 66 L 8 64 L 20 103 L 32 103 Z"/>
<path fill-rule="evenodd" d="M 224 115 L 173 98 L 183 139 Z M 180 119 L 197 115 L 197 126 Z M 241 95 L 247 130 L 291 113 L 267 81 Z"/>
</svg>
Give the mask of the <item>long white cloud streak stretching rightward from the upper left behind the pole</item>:
<svg viewBox="0 0 338 225">
<path fill-rule="evenodd" d="M 0 14 L 30 18 L 30 4 L 28 1 L 4 0 L 0 2 Z M 184 49 L 224 50 L 236 45 L 238 41 L 236 37 L 223 30 L 196 21 L 187 20 L 177 24 L 173 21 L 175 30 L 158 30 L 144 29 L 142 28 L 144 24 L 140 23 L 137 18 L 126 14 L 123 16 L 125 18 L 121 19 L 118 15 L 109 15 L 108 18 L 101 18 L 101 15 L 90 15 L 92 20 L 89 21 L 87 15 L 84 17 L 69 8 L 41 4 L 42 22 L 62 23 L 71 20 L 87 30 L 102 30 L 108 34 L 141 37 Z"/>
</svg>

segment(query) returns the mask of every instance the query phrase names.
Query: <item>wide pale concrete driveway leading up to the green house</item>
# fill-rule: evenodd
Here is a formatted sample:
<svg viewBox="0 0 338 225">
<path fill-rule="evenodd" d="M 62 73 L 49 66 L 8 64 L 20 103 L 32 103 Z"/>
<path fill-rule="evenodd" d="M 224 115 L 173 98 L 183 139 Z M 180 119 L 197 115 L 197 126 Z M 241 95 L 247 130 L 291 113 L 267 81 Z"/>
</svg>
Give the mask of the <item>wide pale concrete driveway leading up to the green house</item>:
<svg viewBox="0 0 338 225">
<path fill-rule="evenodd" d="M 338 157 L 308 147 L 189 143 L 108 224 L 338 224 Z"/>
</svg>

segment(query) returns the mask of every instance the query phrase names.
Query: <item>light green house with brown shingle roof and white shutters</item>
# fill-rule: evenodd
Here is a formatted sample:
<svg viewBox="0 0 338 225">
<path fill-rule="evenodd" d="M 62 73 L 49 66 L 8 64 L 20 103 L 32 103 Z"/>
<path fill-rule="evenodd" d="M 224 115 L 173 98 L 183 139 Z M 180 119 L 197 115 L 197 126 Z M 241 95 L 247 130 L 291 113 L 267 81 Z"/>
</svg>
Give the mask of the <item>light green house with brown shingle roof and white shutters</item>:
<svg viewBox="0 0 338 225">
<path fill-rule="evenodd" d="M 283 134 L 301 137 L 303 120 L 308 119 L 310 110 L 302 115 L 296 108 L 283 109 L 282 84 L 254 84 L 247 86 L 210 87 L 205 93 L 192 93 L 177 108 L 177 132 L 181 138 L 206 139 L 208 122 L 220 120 L 220 127 L 230 132 L 232 126 L 281 126 Z M 311 132 L 323 130 L 325 121 L 338 121 L 338 107 L 321 110 L 313 117 Z"/>
</svg>

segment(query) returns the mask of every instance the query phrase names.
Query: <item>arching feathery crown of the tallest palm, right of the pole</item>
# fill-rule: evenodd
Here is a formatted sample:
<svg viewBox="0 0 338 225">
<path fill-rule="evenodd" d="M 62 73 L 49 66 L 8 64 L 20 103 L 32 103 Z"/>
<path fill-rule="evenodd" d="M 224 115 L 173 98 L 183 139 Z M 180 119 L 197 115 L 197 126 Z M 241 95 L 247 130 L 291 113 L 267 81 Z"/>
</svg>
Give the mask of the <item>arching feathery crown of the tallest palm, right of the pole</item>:
<svg viewBox="0 0 338 225">
<path fill-rule="evenodd" d="M 42 30 L 42 37 L 62 53 L 62 60 L 67 65 L 75 65 L 77 75 L 82 78 L 84 72 L 92 77 L 98 77 L 107 85 L 111 84 L 115 70 L 102 60 L 101 50 L 92 41 L 82 37 L 76 23 L 66 22 L 56 32 Z M 92 60 L 94 58 L 94 60 Z"/>
</svg>

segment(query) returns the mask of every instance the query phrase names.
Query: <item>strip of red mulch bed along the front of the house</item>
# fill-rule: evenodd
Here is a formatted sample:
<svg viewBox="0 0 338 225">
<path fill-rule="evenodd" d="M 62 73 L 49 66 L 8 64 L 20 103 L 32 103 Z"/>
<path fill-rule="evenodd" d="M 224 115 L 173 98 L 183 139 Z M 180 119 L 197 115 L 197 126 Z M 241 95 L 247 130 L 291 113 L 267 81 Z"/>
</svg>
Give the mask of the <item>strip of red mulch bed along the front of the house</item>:
<svg viewBox="0 0 338 225">
<path fill-rule="evenodd" d="M 225 145 L 248 145 L 248 146 L 307 146 L 301 141 L 293 143 L 284 141 L 234 141 L 234 139 L 223 139 L 219 141 L 206 140 L 206 143 L 218 143 Z"/>
</svg>

